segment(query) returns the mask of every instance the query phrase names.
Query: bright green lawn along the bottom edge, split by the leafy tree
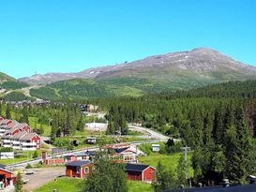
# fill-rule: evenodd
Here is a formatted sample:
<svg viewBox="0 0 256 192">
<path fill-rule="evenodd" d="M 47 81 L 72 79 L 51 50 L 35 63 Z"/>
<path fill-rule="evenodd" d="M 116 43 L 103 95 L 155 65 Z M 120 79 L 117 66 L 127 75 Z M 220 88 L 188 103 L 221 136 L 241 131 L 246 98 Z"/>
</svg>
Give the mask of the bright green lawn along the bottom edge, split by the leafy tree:
<svg viewBox="0 0 256 192">
<path fill-rule="evenodd" d="M 50 182 L 34 192 L 52 192 L 57 189 L 58 192 L 81 192 L 83 189 L 83 179 L 61 178 Z M 128 181 L 128 192 L 153 192 L 151 185 L 142 182 Z"/>
</svg>

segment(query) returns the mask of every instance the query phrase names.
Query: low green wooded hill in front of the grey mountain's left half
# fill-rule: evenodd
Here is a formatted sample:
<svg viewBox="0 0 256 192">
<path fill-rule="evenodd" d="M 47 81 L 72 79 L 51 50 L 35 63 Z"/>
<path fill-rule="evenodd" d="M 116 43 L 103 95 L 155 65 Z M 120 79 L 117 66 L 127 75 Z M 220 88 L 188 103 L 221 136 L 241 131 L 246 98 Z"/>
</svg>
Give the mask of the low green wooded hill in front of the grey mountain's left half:
<svg viewBox="0 0 256 192">
<path fill-rule="evenodd" d="M 31 89 L 30 95 L 42 99 L 84 99 L 112 96 L 143 96 L 139 89 L 118 86 L 103 81 L 68 80 L 58 81 L 38 89 Z"/>
</svg>

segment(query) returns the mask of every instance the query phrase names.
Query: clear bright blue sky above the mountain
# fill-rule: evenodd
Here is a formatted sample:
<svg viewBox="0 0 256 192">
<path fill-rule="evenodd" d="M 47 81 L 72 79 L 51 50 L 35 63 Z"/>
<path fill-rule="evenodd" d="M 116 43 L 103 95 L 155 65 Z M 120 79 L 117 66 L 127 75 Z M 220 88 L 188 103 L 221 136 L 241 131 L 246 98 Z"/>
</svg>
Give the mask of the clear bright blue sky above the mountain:
<svg viewBox="0 0 256 192">
<path fill-rule="evenodd" d="M 196 47 L 256 65 L 256 1 L 0 0 L 0 71 L 16 78 Z"/>
</svg>

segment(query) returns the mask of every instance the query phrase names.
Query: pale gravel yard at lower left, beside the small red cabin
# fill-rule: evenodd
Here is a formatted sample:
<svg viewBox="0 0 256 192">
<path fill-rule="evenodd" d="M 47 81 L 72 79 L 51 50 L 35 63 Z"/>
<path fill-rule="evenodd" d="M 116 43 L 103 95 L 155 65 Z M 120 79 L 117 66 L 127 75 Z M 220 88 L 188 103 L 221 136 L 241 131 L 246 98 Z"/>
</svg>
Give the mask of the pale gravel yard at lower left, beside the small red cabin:
<svg viewBox="0 0 256 192">
<path fill-rule="evenodd" d="M 47 183 L 53 181 L 58 176 L 65 175 L 65 167 L 52 167 L 52 168 L 39 168 L 39 169 L 29 169 L 26 171 L 34 171 L 34 174 L 23 175 L 23 180 L 29 180 L 27 184 L 24 185 L 24 189 L 27 191 L 33 191 L 40 186 L 46 185 Z"/>
</svg>

